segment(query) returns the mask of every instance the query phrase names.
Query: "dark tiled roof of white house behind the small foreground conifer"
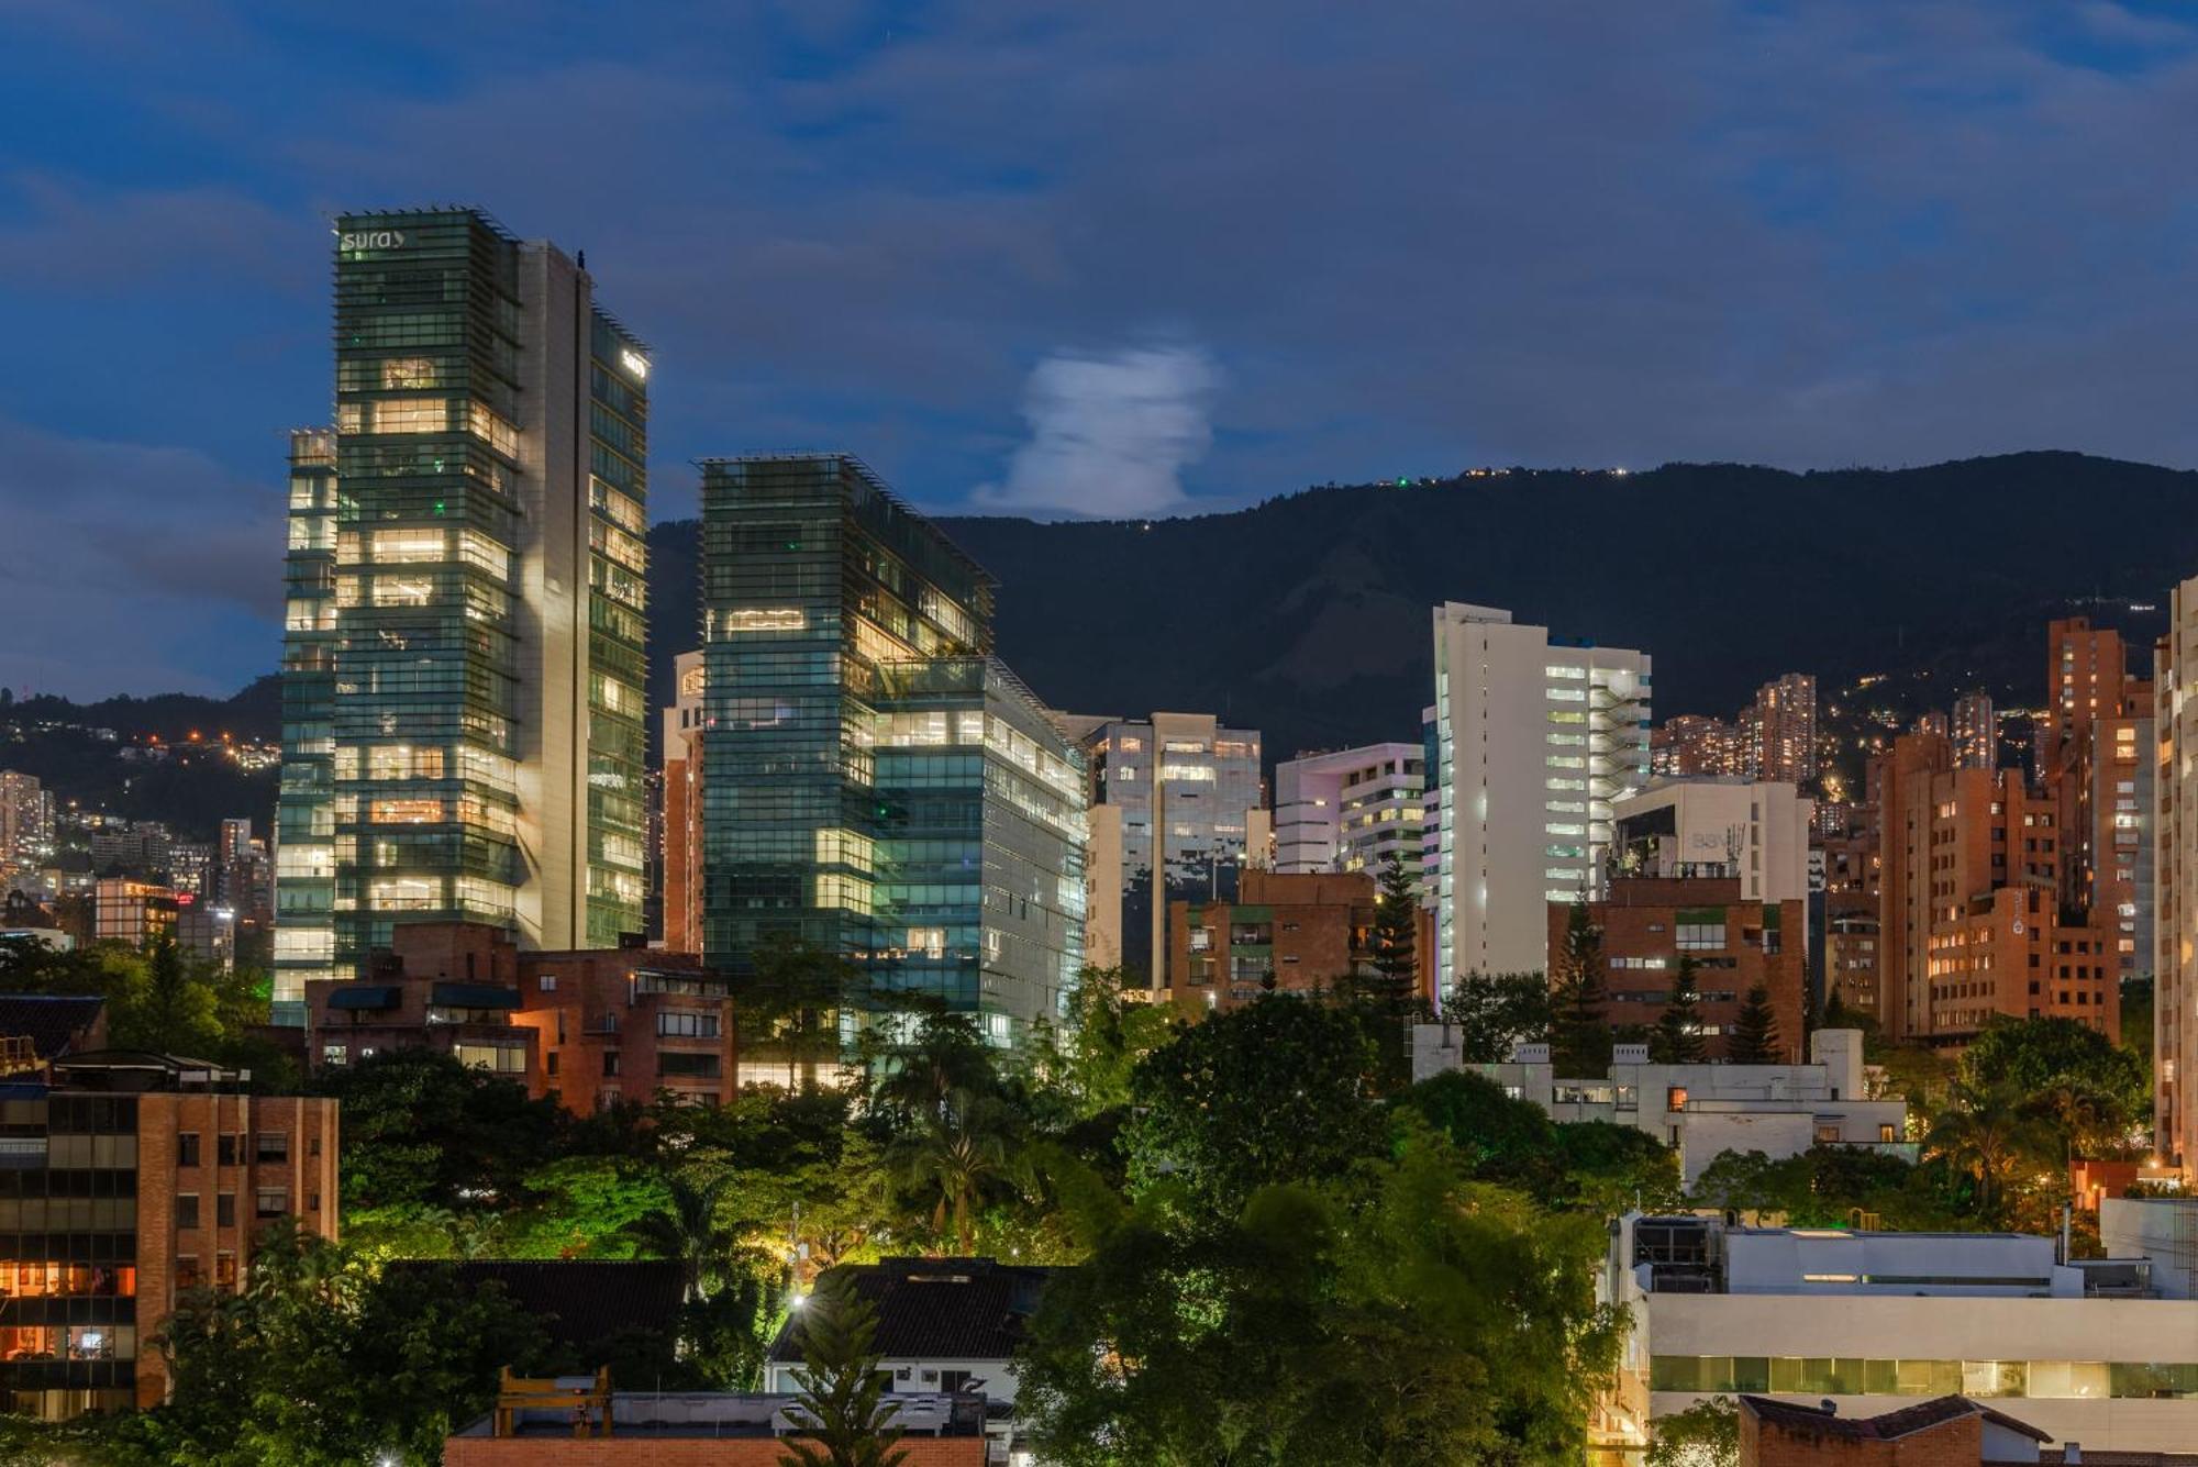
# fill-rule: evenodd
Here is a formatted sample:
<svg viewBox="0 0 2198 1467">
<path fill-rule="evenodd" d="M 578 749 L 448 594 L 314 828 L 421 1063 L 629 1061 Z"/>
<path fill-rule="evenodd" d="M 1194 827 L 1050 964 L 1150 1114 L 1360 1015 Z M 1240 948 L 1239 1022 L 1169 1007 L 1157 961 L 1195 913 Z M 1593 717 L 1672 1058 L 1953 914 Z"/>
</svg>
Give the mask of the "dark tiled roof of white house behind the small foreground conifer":
<svg viewBox="0 0 2198 1467">
<path fill-rule="evenodd" d="M 884 1359 L 1009 1359 L 1055 1274 L 996 1258 L 884 1258 L 846 1272 L 877 1309 L 873 1348 Z M 800 1362 L 796 1324 L 771 1342 L 774 1362 Z"/>
</svg>

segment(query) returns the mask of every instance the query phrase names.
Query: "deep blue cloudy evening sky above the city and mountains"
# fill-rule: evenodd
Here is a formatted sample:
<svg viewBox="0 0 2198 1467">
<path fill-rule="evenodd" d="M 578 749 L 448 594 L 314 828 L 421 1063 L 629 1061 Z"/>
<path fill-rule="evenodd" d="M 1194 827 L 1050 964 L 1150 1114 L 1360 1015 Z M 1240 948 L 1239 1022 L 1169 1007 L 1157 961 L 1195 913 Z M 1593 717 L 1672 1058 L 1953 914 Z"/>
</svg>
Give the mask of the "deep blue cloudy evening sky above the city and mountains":
<svg viewBox="0 0 2198 1467">
<path fill-rule="evenodd" d="M 587 250 L 657 349 L 659 518 L 785 448 L 1033 514 L 2194 466 L 2178 9 L 0 0 L 0 683 L 273 668 L 349 206 Z"/>
</svg>

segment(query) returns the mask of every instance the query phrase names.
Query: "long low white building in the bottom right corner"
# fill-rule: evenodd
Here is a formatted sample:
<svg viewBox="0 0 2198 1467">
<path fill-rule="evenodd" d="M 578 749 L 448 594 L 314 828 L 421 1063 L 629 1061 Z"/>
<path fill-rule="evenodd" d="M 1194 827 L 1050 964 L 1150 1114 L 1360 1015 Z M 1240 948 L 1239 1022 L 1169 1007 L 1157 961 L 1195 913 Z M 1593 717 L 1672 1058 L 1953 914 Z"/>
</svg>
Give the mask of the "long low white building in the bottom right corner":
<svg viewBox="0 0 2198 1467">
<path fill-rule="evenodd" d="M 1714 1395 L 1868 1416 L 1965 1395 L 2095 1449 L 2198 1443 L 2198 1300 L 2147 1258 L 2077 1261 L 2020 1234 L 1611 1225 L 1629 1337 L 1616 1434 Z"/>
</svg>

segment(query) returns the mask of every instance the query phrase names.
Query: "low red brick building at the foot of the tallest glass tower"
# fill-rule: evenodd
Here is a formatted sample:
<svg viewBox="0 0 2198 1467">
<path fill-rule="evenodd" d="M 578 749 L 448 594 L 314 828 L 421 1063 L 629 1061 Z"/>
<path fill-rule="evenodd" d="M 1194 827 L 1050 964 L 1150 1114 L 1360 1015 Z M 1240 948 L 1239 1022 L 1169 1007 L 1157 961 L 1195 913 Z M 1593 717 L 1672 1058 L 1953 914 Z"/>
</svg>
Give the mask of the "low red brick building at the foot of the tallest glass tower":
<svg viewBox="0 0 2198 1467">
<path fill-rule="evenodd" d="M 585 1116 L 657 1091 L 717 1105 L 736 1087 L 723 977 L 690 953 L 521 953 L 481 922 L 413 922 L 365 982 L 306 984 L 308 1061 L 426 1048 Z"/>
</svg>

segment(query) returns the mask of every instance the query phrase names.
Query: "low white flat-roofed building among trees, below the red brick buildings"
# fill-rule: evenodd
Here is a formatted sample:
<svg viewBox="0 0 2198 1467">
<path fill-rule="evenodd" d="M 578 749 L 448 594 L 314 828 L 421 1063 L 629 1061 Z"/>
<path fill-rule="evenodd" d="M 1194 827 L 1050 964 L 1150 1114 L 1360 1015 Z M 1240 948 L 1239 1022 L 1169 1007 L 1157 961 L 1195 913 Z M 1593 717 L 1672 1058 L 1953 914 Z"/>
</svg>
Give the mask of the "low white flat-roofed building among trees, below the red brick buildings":
<svg viewBox="0 0 2198 1467">
<path fill-rule="evenodd" d="M 1679 1153 L 1686 1186 L 1725 1151 L 1778 1160 L 1811 1146 L 1870 1146 L 1914 1160 L 1908 1105 L 1868 1098 L 1862 1030 L 1816 1030 L 1807 1065 L 1651 1065 L 1646 1045 L 1618 1045 L 1600 1078 L 1558 1076 L 1550 1045 L 1517 1045 L 1510 1063 L 1466 1063 L 1453 1023 L 1411 1034 L 1411 1078 L 1484 1074 L 1552 1120 L 1609 1120 Z"/>
</svg>

